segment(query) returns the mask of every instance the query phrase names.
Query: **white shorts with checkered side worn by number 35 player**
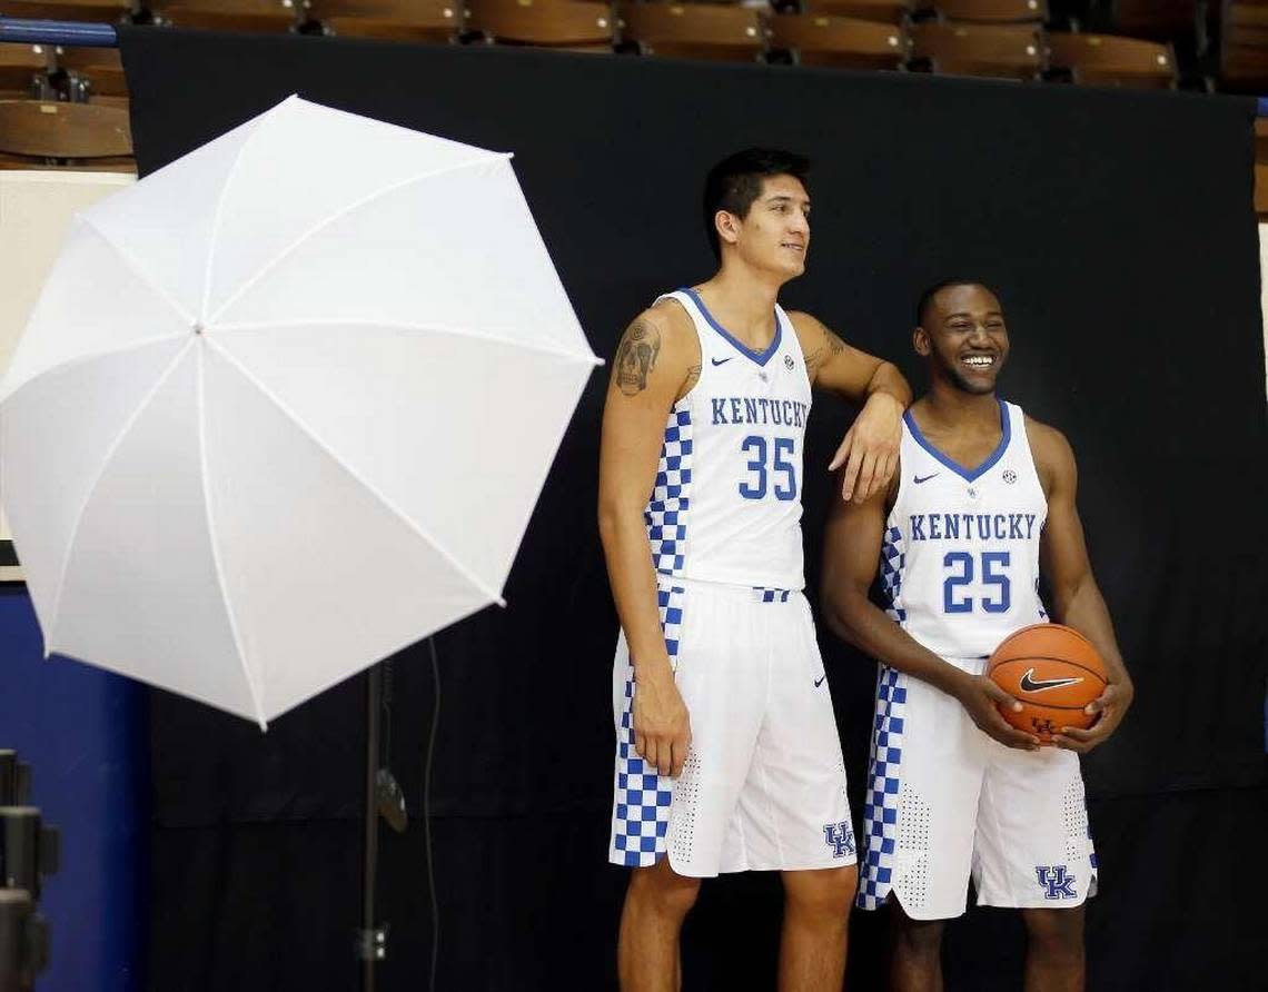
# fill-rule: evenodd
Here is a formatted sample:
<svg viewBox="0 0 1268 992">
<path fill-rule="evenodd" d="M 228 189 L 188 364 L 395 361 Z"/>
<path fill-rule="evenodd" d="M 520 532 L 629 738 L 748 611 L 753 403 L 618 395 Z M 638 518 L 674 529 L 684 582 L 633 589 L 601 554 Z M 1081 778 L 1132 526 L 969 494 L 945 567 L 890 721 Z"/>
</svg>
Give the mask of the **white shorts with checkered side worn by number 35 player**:
<svg viewBox="0 0 1268 992">
<path fill-rule="evenodd" d="M 668 854 L 692 878 L 853 864 L 846 767 L 805 596 L 672 581 L 661 619 L 691 747 L 678 779 L 638 756 L 623 634 L 609 860 L 645 868 Z"/>
</svg>

